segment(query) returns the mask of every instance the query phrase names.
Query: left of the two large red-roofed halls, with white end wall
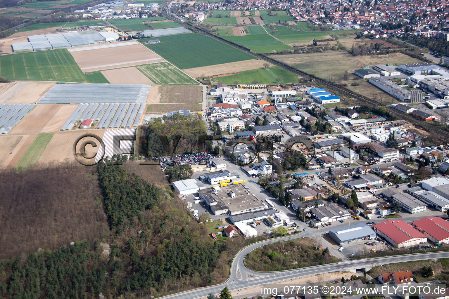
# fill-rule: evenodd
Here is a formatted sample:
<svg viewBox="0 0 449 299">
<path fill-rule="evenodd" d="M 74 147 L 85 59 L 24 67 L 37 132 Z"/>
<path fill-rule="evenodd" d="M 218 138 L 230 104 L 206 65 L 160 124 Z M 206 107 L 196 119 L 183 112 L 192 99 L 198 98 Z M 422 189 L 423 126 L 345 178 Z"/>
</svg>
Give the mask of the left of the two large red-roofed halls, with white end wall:
<svg viewBox="0 0 449 299">
<path fill-rule="evenodd" d="M 427 237 L 402 220 L 386 220 L 373 226 L 374 231 L 396 248 L 426 243 Z"/>
</svg>

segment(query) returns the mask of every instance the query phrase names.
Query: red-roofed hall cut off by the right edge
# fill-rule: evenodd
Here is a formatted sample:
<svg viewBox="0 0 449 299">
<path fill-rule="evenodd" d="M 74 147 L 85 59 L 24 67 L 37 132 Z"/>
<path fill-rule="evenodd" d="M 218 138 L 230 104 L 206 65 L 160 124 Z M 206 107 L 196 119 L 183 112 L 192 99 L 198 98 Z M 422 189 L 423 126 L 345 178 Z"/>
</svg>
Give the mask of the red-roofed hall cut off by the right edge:
<svg viewBox="0 0 449 299">
<path fill-rule="evenodd" d="M 432 242 L 449 244 L 449 222 L 441 217 L 425 217 L 412 225 Z"/>
</svg>

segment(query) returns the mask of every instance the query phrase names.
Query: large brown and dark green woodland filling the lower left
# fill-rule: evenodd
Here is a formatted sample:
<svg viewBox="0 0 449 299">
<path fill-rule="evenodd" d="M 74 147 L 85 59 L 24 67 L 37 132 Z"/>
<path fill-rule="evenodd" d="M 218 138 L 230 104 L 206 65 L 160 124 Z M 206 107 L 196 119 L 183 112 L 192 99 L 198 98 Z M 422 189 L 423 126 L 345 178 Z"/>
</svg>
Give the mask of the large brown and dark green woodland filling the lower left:
<svg viewBox="0 0 449 299">
<path fill-rule="evenodd" d="M 134 298 L 223 282 L 247 242 L 214 242 L 146 167 L 156 183 L 126 170 L 144 173 L 135 161 L 0 173 L 0 297 Z"/>
</svg>

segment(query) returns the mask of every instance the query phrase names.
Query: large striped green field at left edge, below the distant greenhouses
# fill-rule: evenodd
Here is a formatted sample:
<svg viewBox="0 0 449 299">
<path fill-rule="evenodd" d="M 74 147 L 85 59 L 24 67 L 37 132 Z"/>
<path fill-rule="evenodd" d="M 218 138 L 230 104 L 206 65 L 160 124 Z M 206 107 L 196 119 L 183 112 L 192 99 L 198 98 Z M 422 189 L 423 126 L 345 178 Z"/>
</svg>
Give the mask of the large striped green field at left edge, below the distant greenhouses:
<svg viewBox="0 0 449 299">
<path fill-rule="evenodd" d="M 88 82 L 66 49 L 0 56 L 0 77 L 12 80 Z"/>
</svg>

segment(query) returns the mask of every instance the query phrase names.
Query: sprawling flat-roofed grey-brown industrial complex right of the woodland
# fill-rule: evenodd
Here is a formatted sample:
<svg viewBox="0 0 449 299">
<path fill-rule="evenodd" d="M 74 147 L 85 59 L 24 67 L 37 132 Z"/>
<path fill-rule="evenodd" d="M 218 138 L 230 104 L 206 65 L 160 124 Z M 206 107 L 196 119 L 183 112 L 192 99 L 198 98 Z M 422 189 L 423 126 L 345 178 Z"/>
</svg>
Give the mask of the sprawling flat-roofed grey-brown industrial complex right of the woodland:
<svg viewBox="0 0 449 299">
<path fill-rule="evenodd" d="M 214 186 L 198 191 L 199 198 L 214 215 L 230 216 L 264 209 L 264 202 L 255 198 L 249 188 L 242 184 Z"/>
</svg>

